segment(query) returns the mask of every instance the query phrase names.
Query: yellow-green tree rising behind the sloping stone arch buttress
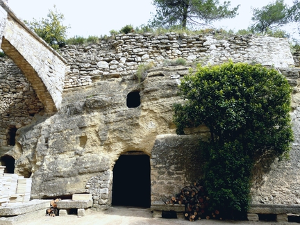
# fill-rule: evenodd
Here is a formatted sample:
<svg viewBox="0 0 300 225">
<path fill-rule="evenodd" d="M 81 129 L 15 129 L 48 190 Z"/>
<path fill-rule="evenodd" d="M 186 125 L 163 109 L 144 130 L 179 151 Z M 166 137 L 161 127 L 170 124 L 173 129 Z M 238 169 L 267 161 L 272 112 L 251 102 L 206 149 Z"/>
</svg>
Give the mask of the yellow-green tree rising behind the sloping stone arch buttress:
<svg viewBox="0 0 300 225">
<path fill-rule="evenodd" d="M 53 49 L 58 49 L 61 45 L 65 44 L 67 29 L 69 27 L 63 25 L 65 17 L 62 13 L 58 12 L 56 6 L 54 6 L 54 11 L 49 10 L 47 17 L 47 19 L 42 18 L 41 21 L 33 18 L 33 22 L 25 21 L 25 24 L 53 47 Z"/>
</svg>

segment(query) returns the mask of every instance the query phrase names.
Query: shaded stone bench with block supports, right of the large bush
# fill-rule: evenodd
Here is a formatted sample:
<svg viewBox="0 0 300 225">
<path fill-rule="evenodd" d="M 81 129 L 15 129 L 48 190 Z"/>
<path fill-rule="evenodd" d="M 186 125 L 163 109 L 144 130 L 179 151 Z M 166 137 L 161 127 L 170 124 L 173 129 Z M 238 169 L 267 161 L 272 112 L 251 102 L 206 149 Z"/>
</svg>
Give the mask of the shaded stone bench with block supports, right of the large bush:
<svg viewBox="0 0 300 225">
<path fill-rule="evenodd" d="M 251 204 L 248 210 L 249 221 L 258 221 L 258 215 L 276 215 L 277 222 L 288 222 L 288 216 L 299 215 L 300 205 Z"/>
</svg>

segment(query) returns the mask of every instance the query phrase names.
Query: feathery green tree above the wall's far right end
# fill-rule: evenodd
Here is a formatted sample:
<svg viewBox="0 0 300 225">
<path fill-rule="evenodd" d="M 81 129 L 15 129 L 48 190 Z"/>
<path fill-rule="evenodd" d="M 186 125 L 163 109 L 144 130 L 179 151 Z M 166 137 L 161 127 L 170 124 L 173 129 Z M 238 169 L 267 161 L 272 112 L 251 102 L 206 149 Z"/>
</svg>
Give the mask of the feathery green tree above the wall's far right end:
<svg viewBox="0 0 300 225">
<path fill-rule="evenodd" d="M 269 29 L 278 28 L 290 22 L 290 8 L 283 0 L 276 0 L 263 8 L 253 8 L 255 22 L 251 29 L 258 33 L 267 33 Z"/>
</svg>

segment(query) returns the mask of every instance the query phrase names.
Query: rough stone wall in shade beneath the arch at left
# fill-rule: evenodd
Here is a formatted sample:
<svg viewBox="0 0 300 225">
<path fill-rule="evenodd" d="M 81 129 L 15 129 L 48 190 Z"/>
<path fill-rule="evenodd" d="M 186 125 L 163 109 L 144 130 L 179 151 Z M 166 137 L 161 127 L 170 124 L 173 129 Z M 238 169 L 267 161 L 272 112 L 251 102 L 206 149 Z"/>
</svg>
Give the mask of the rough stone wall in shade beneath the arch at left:
<svg viewBox="0 0 300 225">
<path fill-rule="evenodd" d="M 10 128 L 31 124 L 43 109 L 31 84 L 12 60 L 0 58 L 0 146 L 9 146 Z"/>
</svg>

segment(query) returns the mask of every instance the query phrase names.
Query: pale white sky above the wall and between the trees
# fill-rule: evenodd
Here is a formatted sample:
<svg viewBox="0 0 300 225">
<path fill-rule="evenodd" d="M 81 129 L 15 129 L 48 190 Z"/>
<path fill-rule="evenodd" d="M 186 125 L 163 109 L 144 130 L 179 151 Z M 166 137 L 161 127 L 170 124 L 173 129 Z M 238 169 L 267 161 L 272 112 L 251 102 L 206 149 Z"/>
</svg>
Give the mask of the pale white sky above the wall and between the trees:
<svg viewBox="0 0 300 225">
<path fill-rule="evenodd" d="M 273 0 L 275 1 L 275 0 Z M 239 15 L 234 19 L 223 19 L 215 22 L 216 28 L 239 29 L 247 28 L 251 24 L 251 8 L 266 6 L 270 0 L 231 0 L 231 6 L 240 5 Z M 8 6 L 20 19 L 32 21 L 47 18 L 49 9 L 55 5 L 65 16 L 63 24 L 69 26 L 68 38 L 89 35 L 109 35 L 111 30 L 119 31 L 123 26 L 132 24 L 133 27 L 147 24 L 151 19 L 151 12 L 156 9 L 151 0 L 8 0 Z M 223 1 L 220 0 L 220 3 Z M 285 0 L 292 6 L 292 0 Z M 290 33 L 296 31 L 294 26 L 287 28 Z"/>
</svg>

